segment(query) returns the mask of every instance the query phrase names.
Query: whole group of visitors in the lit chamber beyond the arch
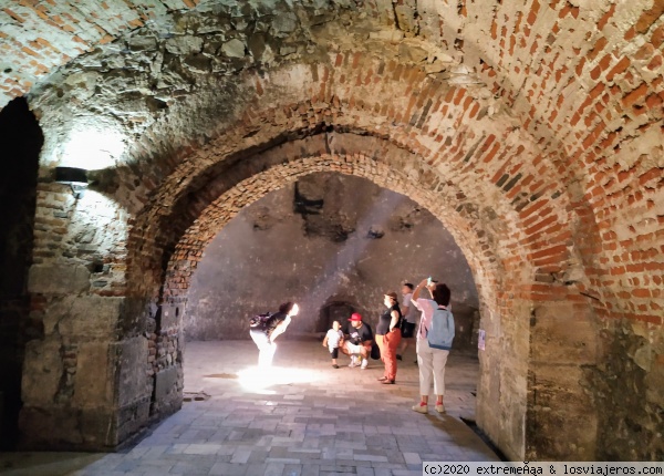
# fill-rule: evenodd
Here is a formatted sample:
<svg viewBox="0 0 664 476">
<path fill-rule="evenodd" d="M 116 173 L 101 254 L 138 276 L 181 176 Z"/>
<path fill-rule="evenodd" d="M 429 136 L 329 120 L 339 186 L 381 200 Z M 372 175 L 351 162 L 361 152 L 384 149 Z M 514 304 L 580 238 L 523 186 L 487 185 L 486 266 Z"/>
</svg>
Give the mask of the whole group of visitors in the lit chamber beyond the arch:
<svg viewBox="0 0 664 476">
<path fill-rule="evenodd" d="M 421 296 L 424 289 L 429 293 L 426 298 Z M 380 359 L 384 363 L 384 373 L 378 377 L 378 382 L 395 384 L 397 361 L 403 360 L 406 349 L 415 341 L 421 401 L 413 406 L 413 410 L 418 413 L 428 412 L 428 396 L 433 383 L 436 395 L 434 408 L 438 413 L 445 413 L 445 365 L 454 339 L 454 320 L 452 324 L 440 328 L 434 324 L 434 318 L 437 315 L 436 319 L 443 319 L 439 317 L 443 311 L 446 313 L 443 315 L 453 319 L 448 309 L 450 290 L 445 283 L 428 278 L 417 286 L 405 283 L 402 294 L 401 306 L 396 292 L 387 291 L 383 294 L 383 304 L 386 309 L 378 318 L 375 335 L 371 327 L 363 321 L 362 315 L 355 312 L 349 319 L 350 327 L 346 334 L 342 331 L 341 322 L 332 323 L 332 329 L 323 339 L 323 346 L 330 351 L 334 369 L 339 369 L 340 351 L 351 358 L 349 366 L 366 369 L 375 343 L 380 350 Z M 251 329 L 251 339 L 259 349 L 259 365 L 271 364 L 276 350 L 274 339 L 286 331 L 291 317 L 297 315 L 298 311 L 298 304 L 283 303 L 279 312 L 272 314 L 261 328 Z M 434 330 L 436 340 L 432 342 L 429 332 Z"/>
</svg>

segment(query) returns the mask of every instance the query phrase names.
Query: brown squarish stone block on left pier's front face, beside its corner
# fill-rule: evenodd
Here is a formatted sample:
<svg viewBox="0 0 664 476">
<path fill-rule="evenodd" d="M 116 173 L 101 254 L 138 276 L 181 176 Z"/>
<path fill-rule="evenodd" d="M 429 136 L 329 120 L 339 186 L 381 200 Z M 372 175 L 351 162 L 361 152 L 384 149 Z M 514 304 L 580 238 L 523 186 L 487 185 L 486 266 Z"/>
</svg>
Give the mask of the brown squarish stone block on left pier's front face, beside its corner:
<svg viewBox="0 0 664 476">
<path fill-rule="evenodd" d="M 111 406 L 114 381 L 108 344 L 80 344 L 72 403 L 79 407 Z"/>
</svg>

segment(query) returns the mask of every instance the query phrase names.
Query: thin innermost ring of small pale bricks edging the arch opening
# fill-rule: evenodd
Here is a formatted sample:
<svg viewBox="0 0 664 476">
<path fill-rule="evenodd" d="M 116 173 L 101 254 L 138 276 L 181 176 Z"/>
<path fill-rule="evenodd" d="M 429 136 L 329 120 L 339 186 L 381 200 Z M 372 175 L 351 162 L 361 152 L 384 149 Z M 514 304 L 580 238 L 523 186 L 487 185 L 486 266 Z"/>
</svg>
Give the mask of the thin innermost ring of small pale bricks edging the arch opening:
<svg viewBox="0 0 664 476">
<path fill-rule="evenodd" d="M 304 175 L 338 172 L 363 177 L 392 192 L 407 195 L 408 198 L 432 211 L 450 230 L 468 257 L 469 265 L 478 279 L 477 286 L 484 290 L 484 301 L 490 302 L 486 306 L 490 308 L 497 306 L 492 291 L 496 282 L 500 280 L 497 272 L 499 266 L 483 256 L 484 240 L 478 238 L 473 225 L 465 217 L 454 211 L 456 195 L 454 186 L 446 186 L 448 190 L 442 194 L 437 192 L 439 184 L 435 180 L 419 183 L 405 176 L 388 159 L 376 161 L 375 157 L 362 152 L 326 154 L 311 151 L 311 154 L 307 154 L 304 149 L 312 145 L 315 147 L 321 143 L 311 141 L 307 144 L 304 141 L 298 141 L 292 144 L 292 147 L 290 144 L 287 147 L 277 147 L 271 155 L 284 157 L 286 154 L 295 151 L 299 154 L 289 156 L 282 163 L 236 183 L 200 210 L 195 223 L 183 234 L 169 260 L 164 282 L 165 301 L 186 300 L 189 280 L 201 259 L 203 251 L 239 210 Z"/>
</svg>

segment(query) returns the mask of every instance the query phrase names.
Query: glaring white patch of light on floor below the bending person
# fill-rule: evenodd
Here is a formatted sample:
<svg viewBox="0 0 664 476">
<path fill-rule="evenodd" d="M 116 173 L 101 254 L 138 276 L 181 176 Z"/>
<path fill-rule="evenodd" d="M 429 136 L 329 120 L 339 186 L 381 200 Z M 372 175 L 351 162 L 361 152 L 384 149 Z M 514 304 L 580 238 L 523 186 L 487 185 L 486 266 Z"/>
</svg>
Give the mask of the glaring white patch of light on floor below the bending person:
<svg viewBox="0 0 664 476">
<path fill-rule="evenodd" d="M 311 369 L 276 365 L 270 368 L 249 366 L 238 372 L 238 380 L 242 389 L 264 395 L 277 393 L 270 389 L 272 386 L 317 382 L 320 376 L 321 372 Z"/>
</svg>

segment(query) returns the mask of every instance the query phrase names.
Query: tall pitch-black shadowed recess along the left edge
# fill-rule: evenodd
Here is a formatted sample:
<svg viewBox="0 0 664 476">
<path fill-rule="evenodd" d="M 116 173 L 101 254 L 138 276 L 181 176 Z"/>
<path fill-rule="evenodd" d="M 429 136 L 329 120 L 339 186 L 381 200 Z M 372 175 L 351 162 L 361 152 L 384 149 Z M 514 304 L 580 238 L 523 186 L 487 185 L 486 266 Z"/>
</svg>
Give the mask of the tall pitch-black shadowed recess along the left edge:
<svg viewBox="0 0 664 476">
<path fill-rule="evenodd" d="M 28 270 L 32 263 L 41 128 L 23 99 L 0 111 L 0 449 L 12 449 L 21 408 L 21 369 L 27 340 L 41 337 L 30 320 Z M 62 210 L 53 208 L 53 219 Z"/>
</svg>

